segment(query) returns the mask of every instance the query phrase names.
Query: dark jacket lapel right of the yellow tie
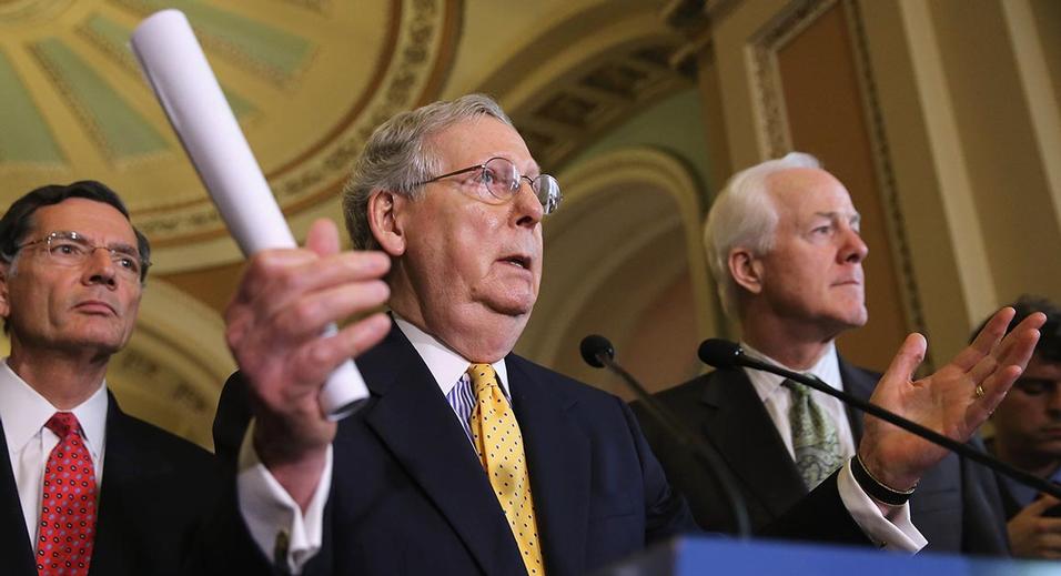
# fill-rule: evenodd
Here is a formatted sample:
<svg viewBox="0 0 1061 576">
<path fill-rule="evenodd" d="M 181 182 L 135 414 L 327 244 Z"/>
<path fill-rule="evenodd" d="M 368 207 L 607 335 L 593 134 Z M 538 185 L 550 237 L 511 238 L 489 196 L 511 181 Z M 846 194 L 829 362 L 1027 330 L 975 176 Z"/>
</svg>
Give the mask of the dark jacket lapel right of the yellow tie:
<svg viewBox="0 0 1061 576">
<path fill-rule="evenodd" d="M 575 400 L 546 386 L 525 360 L 509 354 L 513 410 L 523 433 L 546 574 L 584 574 L 589 522 L 589 439 L 566 412 Z"/>
</svg>

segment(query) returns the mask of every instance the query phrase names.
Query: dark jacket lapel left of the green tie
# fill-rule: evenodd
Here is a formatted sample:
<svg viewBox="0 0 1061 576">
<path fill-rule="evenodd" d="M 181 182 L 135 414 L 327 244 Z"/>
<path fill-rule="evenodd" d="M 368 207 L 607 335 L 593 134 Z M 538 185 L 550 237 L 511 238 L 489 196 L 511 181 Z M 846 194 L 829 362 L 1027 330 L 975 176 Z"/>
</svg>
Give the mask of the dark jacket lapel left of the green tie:
<svg viewBox="0 0 1061 576">
<path fill-rule="evenodd" d="M 704 418 L 707 438 L 747 492 L 780 516 L 807 494 L 791 455 L 742 370 L 719 370 L 709 378 L 701 397 L 714 408 Z"/>
</svg>

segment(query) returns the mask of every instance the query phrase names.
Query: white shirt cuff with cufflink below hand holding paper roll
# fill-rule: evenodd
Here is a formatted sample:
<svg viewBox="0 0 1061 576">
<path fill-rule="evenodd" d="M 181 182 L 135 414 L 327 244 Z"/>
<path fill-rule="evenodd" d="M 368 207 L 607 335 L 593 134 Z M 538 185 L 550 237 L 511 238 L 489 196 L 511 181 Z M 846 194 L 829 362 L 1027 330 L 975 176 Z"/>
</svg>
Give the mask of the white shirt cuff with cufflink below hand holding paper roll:
<svg viewBox="0 0 1061 576">
<path fill-rule="evenodd" d="M 271 562 L 286 546 L 287 569 L 300 574 L 310 558 L 321 550 L 324 533 L 324 506 L 332 487 L 332 446 L 327 447 L 324 472 L 305 513 L 262 464 L 254 449 L 254 421 L 247 426 L 240 446 L 236 488 L 240 512 L 251 538 Z M 280 548 L 280 550 L 277 550 Z"/>
</svg>

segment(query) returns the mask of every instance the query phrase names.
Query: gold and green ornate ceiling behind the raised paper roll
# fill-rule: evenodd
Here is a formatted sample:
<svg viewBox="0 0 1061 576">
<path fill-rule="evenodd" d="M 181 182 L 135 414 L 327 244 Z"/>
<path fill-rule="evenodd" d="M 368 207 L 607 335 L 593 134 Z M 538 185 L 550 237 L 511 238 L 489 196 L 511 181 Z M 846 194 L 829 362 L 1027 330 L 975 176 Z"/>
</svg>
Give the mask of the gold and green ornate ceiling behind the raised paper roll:
<svg viewBox="0 0 1061 576">
<path fill-rule="evenodd" d="M 160 249 L 225 234 L 128 47 L 156 10 L 189 17 L 287 212 L 334 196 L 375 124 L 437 93 L 459 21 L 446 0 L 262 4 L 0 0 L 2 201 L 92 178 Z"/>
</svg>

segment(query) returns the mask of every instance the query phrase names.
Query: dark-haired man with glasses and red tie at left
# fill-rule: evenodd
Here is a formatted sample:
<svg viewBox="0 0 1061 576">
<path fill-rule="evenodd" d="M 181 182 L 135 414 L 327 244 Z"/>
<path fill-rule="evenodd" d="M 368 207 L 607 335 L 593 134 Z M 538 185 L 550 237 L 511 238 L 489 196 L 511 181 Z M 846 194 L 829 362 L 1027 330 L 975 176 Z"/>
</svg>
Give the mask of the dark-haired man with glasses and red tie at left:
<svg viewBox="0 0 1061 576">
<path fill-rule="evenodd" d="M 98 182 L 33 190 L 0 219 L 4 574 L 176 574 L 220 485 L 210 453 L 124 414 L 107 390 L 149 256 Z"/>
</svg>

